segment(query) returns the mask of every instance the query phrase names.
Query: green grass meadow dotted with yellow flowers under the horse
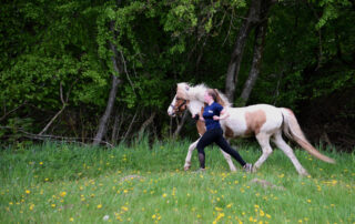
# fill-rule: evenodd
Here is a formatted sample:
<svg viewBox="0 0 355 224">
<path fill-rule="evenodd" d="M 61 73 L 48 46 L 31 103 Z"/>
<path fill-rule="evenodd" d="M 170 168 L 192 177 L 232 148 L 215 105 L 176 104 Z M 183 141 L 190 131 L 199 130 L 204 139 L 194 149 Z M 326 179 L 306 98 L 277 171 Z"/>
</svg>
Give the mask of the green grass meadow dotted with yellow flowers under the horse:
<svg viewBox="0 0 355 224">
<path fill-rule="evenodd" d="M 297 150 L 301 177 L 275 150 L 254 174 L 231 173 L 217 149 L 207 171 L 184 172 L 189 142 L 115 149 L 45 143 L 0 151 L 0 223 L 354 223 L 355 154 Z M 261 151 L 242 145 L 255 162 Z M 194 152 L 193 170 L 197 169 Z M 260 179 L 285 190 L 251 183 Z M 106 221 L 104 220 L 106 218 Z"/>
</svg>

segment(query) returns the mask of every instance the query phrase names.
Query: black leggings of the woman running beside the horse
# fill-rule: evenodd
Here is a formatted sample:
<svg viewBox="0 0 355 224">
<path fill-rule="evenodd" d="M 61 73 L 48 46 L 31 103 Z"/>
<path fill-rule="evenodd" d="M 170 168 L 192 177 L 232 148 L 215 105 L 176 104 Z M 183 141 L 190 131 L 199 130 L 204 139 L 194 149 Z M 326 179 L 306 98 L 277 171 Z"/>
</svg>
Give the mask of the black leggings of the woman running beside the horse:
<svg viewBox="0 0 355 224">
<path fill-rule="evenodd" d="M 204 147 L 212 144 L 213 142 L 216 143 L 224 152 L 229 153 L 232 157 L 234 157 L 242 166 L 245 165 L 245 161 L 242 159 L 240 153 L 233 150 L 231 145 L 226 142 L 226 140 L 223 138 L 222 129 L 212 129 L 206 131 L 197 143 L 200 166 L 202 169 L 205 167 L 204 166 L 204 161 L 205 161 Z"/>
</svg>

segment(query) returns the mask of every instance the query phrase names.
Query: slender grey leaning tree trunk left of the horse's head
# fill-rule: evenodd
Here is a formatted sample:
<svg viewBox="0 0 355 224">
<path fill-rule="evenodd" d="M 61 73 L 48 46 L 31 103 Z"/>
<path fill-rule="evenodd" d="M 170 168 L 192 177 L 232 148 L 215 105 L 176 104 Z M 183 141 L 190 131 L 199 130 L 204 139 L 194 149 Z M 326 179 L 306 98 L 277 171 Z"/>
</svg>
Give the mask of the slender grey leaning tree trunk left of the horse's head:
<svg viewBox="0 0 355 224">
<path fill-rule="evenodd" d="M 113 21 L 110 22 L 110 30 L 112 31 L 112 33 L 114 33 L 114 22 Z M 114 105 L 114 100 L 115 100 L 115 95 L 118 93 L 119 84 L 122 82 L 118 78 L 118 74 L 123 73 L 122 65 L 119 64 L 120 57 L 119 57 L 118 50 L 111 41 L 109 41 L 109 44 L 110 44 L 111 51 L 113 52 L 111 60 L 112 60 L 112 64 L 113 64 L 113 69 L 115 71 L 115 74 L 112 74 L 112 84 L 111 84 L 111 90 L 110 90 L 110 95 L 109 95 L 106 109 L 105 109 L 102 118 L 100 119 L 99 129 L 98 129 L 97 135 L 94 138 L 93 145 L 99 145 L 100 142 L 102 141 L 102 138 L 105 135 L 105 133 L 108 131 L 108 121 L 109 121 L 111 113 L 112 113 L 112 109 Z"/>
</svg>

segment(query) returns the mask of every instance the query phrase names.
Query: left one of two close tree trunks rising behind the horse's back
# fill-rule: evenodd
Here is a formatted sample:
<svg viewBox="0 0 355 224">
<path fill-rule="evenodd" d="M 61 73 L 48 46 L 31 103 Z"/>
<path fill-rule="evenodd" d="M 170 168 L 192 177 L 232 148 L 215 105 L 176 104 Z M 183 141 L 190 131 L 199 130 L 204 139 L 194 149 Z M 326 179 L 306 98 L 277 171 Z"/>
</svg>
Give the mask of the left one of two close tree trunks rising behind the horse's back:
<svg viewBox="0 0 355 224">
<path fill-rule="evenodd" d="M 260 0 L 252 0 L 252 3 L 247 12 L 247 17 L 241 26 L 234 44 L 234 50 L 231 55 L 231 61 L 225 78 L 225 94 L 232 103 L 234 101 L 235 85 L 237 83 L 237 77 L 243 59 L 246 39 L 253 24 L 255 24 L 258 21 L 260 7 Z"/>
</svg>

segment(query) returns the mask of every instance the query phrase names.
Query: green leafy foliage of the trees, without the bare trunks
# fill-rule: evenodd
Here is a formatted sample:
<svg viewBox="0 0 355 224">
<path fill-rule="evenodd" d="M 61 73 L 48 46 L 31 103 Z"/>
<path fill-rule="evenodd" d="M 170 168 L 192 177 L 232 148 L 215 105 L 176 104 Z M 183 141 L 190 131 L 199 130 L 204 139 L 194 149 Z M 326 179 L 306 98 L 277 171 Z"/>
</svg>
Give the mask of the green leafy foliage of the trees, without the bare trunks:
<svg viewBox="0 0 355 224">
<path fill-rule="evenodd" d="M 250 2 L 6 1 L 0 9 L 1 125 L 17 120 L 20 126 L 33 124 L 26 129 L 38 133 L 62 108 L 62 86 L 68 102 L 57 132 L 92 136 L 106 106 L 112 74 L 121 80 L 119 112 L 126 108 L 163 114 L 181 81 L 223 91 Z M 353 89 L 353 6 L 348 0 L 278 1 L 268 13 L 261 75 L 247 104 L 271 103 L 298 112 L 312 99 Z M 248 75 L 253 37 L 254 32 L 246 43 L 236 95 Z M 110 42 L 118 50 L 120 74 L 113 69 Z M 138 123 L 148 118 L 141 115 Z M 158 135 L 166 133 L 169 122 L 161 115 Z"/>
</svg>

